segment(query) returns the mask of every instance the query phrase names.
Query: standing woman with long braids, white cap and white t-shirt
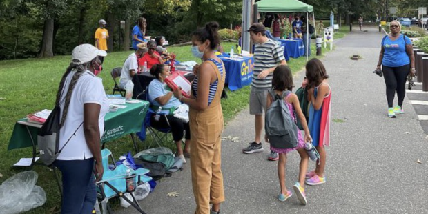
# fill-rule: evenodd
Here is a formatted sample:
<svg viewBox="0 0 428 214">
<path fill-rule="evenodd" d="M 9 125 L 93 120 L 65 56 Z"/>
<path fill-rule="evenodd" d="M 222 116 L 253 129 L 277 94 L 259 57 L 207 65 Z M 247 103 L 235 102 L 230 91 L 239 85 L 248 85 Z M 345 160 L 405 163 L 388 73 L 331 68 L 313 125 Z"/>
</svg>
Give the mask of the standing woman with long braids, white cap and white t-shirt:
<svg viewBox="0 0 428 214">
<path fill-rule="evenodd" d="M 98 56 L 106 55 L 106 51 L 90 44 L 77 46 L 59 84 L 59 147 L 70 139 L 54 162 L 62 173 L 61 214 L 91 213 L 97 199 L 93 169 L 95 163 L 95 176 L 102 179 L 100 141 L 108 101 L 101 79 L 96 76 L 101 72 Z"/>
</svg>

